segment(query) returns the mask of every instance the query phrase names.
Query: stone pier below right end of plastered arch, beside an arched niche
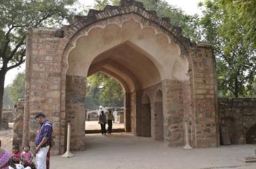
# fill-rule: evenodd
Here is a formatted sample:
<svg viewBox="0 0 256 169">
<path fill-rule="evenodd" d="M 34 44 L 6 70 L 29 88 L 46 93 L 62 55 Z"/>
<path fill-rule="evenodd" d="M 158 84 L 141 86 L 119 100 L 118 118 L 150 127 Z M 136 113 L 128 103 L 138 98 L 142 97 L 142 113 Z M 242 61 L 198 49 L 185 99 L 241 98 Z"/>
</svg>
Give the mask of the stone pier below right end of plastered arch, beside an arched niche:
<svg viewBox="0 0 256 169">
<path fill-rule="evenodd" d="M 185 145 L 182 86 L 182 81 L 165 79 L 162 82 L 164 111 L 164 144 L 169 147 L 178 147 Z"/>
</svg>

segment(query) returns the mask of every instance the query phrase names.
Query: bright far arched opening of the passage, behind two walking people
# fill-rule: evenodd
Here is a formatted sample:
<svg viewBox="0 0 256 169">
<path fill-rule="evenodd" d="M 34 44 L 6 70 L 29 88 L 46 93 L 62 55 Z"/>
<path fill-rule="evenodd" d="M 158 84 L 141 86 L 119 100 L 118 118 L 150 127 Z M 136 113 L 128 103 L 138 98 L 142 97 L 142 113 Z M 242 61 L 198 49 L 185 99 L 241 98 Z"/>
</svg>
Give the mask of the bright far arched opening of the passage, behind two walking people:
<svg viewBox="0 0 256 169">
<path fill-rule="evenodd" d="M 105 72 L 86 78 L 86 134 L 100 133 L 100 111 L 114 116 L 112 132 L 124 132 L 124 94 L 122 83 Z M 107 125 L 108 127 L 108 125 Z"/>
</svg>

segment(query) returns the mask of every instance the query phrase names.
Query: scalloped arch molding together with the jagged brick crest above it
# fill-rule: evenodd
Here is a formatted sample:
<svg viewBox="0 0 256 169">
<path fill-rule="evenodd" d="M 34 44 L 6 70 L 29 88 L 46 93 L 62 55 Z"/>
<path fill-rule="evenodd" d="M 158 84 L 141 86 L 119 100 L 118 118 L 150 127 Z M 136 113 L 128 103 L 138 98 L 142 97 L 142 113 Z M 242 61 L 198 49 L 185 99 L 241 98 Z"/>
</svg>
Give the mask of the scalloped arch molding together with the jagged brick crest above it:
<svg viewBox="0 0 256 169">
<path fill-rule="evenodd" d="M 88 16 L 75 16 L 71 25 L 63 26 L 62 35 L 68 42 L 62 56 L 64 69 L 67 70 L 66 60 L 71 50 L 76 47 L 76 42 L 80 37 L 90 35 L 90 32 L 94 29 L 106 29 L 111 24 L 122 28 L 129 20 L 137 22 L 141 26 L 141 30 L 151 29 L 156 37 L 164 37 L 166 43 L 177 45 L 181 58 L 177 59 L 175 63 L 181 65 L 182 71 L 185 71 L 183 75 L 188 78 L 187 71 L 191 70 L 193 66 L 190 55 L 194 55 L 196 43 L 191 43 L 189 39 L 183 37 L 181 28 L 172 26 L 169 18 L 159 18 L 156 12 L 145 10 L 143 3 L 134 0 L 123 0 L 120 2 L 120 6 L 108 5 L 103 11 L 90 10 Z M 187 61 L 183 62 L 184 60 Z M 176 71 L 172 77 L 177 79 L 179 78 L 178 74 Z"/>
</svg>

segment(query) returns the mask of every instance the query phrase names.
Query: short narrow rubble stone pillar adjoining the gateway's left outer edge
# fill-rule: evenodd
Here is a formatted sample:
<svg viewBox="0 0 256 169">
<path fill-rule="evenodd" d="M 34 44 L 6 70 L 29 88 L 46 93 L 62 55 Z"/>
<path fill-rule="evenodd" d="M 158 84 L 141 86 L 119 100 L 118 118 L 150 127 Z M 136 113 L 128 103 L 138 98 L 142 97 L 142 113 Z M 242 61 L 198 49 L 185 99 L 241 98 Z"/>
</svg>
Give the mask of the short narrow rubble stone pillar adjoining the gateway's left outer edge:
<svg viewBox="0 0 256 169">
<path fill-rule="evenodd" d="M 22 145 L 24 100 L 18 100 L 14 105 L 14 136 L 12 144 Z"/>
</svg>

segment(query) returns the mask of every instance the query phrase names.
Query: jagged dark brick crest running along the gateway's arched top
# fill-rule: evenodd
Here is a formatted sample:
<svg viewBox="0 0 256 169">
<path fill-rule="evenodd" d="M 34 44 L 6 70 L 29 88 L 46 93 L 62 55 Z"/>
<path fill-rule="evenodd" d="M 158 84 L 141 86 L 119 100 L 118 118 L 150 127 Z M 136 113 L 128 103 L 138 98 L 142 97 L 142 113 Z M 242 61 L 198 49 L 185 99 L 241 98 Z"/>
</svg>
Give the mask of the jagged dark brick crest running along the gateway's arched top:
<svg viewBox="0 0 256 169">
<path fill-rule="evenodd" d="M 172 42 L 179 44 L 182 53 L 186 53 L 191 48 L 190 39 L 183 37 L 181 28 L 172 26 L 170 18 L 160 18 L 155 11 L 147 11 L 143 3 L 134 0 L 121 0 L 120 6 L 107 5 L 103 11 L 90 10 L 88 16 L 75 16 L 73 23 L 69 26 L 63 26 L 64 36 L 67 39 L 73 39 L 82 29 L 90 27 L 99 21 L 106 21 L 111 18 L 120 17 L 120 24 L 124 22 L 128 14 L 132 14 L 132 18 L 139 18 L 141 27 L 151 26 L 155 28 L 156 33 L 165 33 L 170 37 Z M 104 26 L 102 24 L 101 26 Z"/>
</svg>

